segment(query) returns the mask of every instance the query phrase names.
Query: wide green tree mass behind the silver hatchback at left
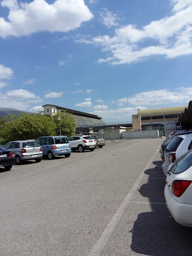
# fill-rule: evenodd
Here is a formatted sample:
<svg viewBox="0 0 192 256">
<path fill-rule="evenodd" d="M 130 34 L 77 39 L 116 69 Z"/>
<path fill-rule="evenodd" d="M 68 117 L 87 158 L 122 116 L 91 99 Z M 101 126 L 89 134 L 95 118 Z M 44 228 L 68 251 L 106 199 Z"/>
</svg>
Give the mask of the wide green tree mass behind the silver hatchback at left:
<svg viewBox="0 0 192 256">
<path fill-rule="evenodd" d="M 55 136 L 56 123 L 50 116 L 45 116 L 42 112 L 37 114 L 27 114 L 21 112 L 20 115 L 9 114 L 6 124 L 2 130 L 1 137 L 4 142 L 11 140 L 36 139 L 39 136 Z"/>
</svg>

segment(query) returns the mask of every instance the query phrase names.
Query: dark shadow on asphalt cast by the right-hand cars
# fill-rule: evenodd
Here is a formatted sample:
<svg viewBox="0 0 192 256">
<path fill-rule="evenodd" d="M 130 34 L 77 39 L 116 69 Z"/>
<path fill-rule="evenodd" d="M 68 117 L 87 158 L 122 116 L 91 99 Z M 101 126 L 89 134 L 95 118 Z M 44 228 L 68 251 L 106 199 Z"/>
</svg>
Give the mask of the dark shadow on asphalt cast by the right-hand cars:
<svg viewBox="0 0 192 256">
<path fill-rule="evenodd" d="M 148 183 L 138 190 L 150 200 L 152 212 L 138 214 L 132 232 L 132 251 L 153 256 L 192 255 L 192 229 L 178 224 L 170 218 L 164 198 L 165 176 L 162 162 L 153 162 L 155 168 L 148 169 Z"/>
</svg>

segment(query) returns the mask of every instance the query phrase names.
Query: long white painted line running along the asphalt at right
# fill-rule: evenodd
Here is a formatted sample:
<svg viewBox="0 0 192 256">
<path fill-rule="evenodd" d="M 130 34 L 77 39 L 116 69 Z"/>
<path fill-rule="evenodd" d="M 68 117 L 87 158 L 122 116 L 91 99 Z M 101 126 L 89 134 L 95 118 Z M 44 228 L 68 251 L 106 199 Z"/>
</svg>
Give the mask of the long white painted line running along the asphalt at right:
<svg viewBox="0 0 192 256">
<path fill-rule="evenodd" d="M 110 235 L 112 234 L 114 228 L 116 227 L 116 225 L 120 221 L 120 218 L 122 217 L 122 215 L 123 215 L 125 209 L 127 208 L 128 204 L 130 203 L 130 200 L 131 200 L 132 196 L 134 195 L 134 192 L 137 190 L 142 178 L 144 177 L 144 175 L 145 175 L 144 171 L 148 170 L 148 168 L 151 165 L 152 161 L 154 160 L 157 152 L 158 152 L 158 150 L 156 150 L 156 152 L 154 153 L 152 158 L 149 160 L 148 164 L 146 165 L 146 167 L 144 168 L 144 170 L 140 174 L 139 178 L 136 180 L 135 184 L 132 186 L 130 192 L 127 194 L 126 198 L 123 200 L 122 204 L 118 208 L 117 212 L 115 213 L 112 220 L 109 222 L 109 224 L 107 225 L 107 227 L 103 231 L 102 235 L 100 236 L 99 240 L 96 242 L 95 246 L 92 248 L 92 250 L 91 250 L 91 252 L 88 256 L 99 256 L 101 254 L 106 242 L 108 241 L 108 239 L 110 238 Z"/>
</svg>

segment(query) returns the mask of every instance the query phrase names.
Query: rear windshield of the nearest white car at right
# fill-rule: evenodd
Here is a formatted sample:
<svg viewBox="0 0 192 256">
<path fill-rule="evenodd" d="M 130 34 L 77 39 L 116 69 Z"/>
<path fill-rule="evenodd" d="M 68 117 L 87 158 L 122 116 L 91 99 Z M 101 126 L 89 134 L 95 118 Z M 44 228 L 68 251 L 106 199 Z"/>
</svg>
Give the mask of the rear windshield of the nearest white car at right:
<svg viewBox="0 0 192 256">
<path fill-rule="evenodd" d="M 171 168 L 171 171 L 178 174 L 186 171 L 190 166 L 192 166 L 192 150 L 188 151 L 184 156 L 179 158 Z"/>
</svg>

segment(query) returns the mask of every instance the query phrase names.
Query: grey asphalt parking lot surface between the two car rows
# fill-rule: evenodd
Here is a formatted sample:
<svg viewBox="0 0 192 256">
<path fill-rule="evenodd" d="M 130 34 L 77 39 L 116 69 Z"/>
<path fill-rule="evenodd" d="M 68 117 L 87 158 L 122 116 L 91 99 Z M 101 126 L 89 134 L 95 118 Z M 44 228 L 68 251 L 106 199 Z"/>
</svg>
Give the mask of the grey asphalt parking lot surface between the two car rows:
<svg viewBox="0 0 192 256">
<path fill-rule="evenodd" d="M 0 168 L 0 255 L 191 255 L 192 229 L 166 209 L 163 140 Z"/>
</svg>

